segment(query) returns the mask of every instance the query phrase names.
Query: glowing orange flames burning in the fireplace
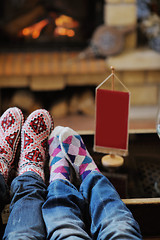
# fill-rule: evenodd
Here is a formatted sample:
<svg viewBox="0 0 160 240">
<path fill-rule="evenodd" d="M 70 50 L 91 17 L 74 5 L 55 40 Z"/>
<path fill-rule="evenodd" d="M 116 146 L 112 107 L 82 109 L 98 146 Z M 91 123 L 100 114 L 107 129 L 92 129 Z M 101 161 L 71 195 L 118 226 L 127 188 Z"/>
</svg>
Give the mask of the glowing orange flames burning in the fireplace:
<svg viewBox="0 0 160 240">
<path fill-rule="evenodd" d="M 67 36 L 74 37 L 75 36 L 75 28 L 79 26 L 79 23 L 75 21 L 72 17 L 66 15 L 60 15 L 55 18 L 55 29 L 53 35 L 55 37 L 58 36 Z M 32 26 L 26 27 L 22 29 L 19 33 L 19 36 L 24 37 L 32 37 L 33 39 L 37 39 L 40 36 L 42 29 L 49 24 L 48 19 L 44 19 L 38 23 L 33 24 Z"/>
</svg>

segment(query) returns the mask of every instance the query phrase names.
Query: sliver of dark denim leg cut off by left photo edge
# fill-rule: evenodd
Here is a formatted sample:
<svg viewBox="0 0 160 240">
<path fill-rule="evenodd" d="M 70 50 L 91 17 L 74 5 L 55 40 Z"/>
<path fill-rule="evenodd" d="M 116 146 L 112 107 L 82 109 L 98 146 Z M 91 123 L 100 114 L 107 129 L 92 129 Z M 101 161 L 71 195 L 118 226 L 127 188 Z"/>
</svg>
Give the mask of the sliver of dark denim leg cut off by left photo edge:
<svg viewBox="0 0 160 240">
<path fill-rule="evenodd" d="M 4 226 L 2 224 L 1 213 L 2 213 L 2 210 L 3 210 L 4 206 L 5 206 L 5 204 L 8 203 L 8 202 L 9 202 L 8 187 L 6 185 L 4 177 L 0 173 L 0 239 L 2 237 L 3 230 L 4 230 Z"/>
</svg>

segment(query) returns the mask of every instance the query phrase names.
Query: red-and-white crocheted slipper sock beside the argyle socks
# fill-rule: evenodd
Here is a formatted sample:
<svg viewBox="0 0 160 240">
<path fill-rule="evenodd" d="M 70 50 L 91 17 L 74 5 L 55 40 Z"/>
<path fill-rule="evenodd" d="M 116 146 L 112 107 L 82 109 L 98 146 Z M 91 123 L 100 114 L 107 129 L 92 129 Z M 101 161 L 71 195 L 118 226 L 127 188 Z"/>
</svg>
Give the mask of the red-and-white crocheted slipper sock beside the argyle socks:
<svg viewBox="0 0 160 240">
<path fill-rule="evenodd" d="M 44 109 L 34 111 L 25 121 L 21 132 L 21 155 L 18 175 L 33 171 L 44 180 L 44 162 L 48 137 L 53 129 L 53 120 Z"/>
</svg>

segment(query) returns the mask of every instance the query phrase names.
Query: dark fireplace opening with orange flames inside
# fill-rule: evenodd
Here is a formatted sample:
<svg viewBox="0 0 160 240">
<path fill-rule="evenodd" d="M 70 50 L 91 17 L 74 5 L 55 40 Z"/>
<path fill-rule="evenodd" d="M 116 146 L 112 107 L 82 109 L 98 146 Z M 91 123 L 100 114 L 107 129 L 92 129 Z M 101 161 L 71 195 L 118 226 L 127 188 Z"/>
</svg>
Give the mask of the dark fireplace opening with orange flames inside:
<svg viewBox="0 0 160 240">
<path fill-rule="evenodd" d="M 0 49 L 82 49 L 103 23 L 104 0 L 3 0 Z"/>
</svg>

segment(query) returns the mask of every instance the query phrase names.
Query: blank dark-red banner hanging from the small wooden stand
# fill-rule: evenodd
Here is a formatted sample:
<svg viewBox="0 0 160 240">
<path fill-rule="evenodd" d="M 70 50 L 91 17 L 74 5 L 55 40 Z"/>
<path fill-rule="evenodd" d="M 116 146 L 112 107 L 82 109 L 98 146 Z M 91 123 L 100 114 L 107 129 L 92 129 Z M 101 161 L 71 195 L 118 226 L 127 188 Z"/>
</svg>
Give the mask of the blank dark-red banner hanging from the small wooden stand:
<svg viewBox="0 0 160 240">
<path fill-rule="evenodd" d="M 95 151 L 127 155 L 129 102 L 129 92 L 96 89 Z"/>
</svg>

